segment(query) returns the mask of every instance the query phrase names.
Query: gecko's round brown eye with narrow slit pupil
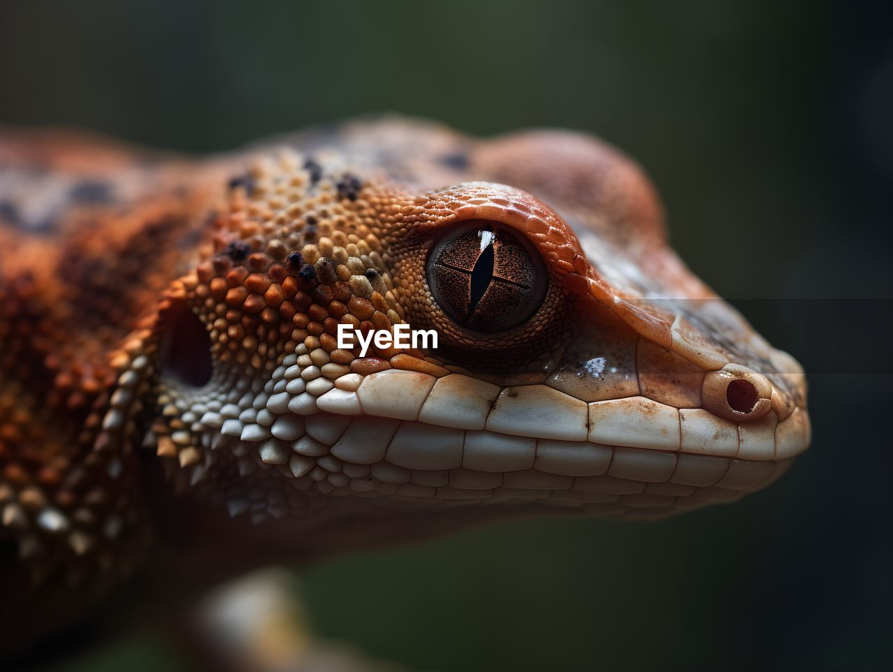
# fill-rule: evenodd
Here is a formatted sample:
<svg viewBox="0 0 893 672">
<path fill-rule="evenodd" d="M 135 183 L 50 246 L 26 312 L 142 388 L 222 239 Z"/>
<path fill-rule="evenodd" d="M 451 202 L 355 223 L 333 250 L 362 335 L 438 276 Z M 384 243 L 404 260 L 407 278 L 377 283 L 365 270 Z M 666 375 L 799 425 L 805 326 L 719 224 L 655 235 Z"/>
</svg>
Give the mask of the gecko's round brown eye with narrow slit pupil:
<svg viewBox="0 0 893 672">
<path fill-rule="evenodd" d="M 431 295 L 455 322 L 492 334 L 517 327 L 538 311 L 548 276 L 523 236 L 488 221 L 450 230 L 428 257 Z"/>
</svg>

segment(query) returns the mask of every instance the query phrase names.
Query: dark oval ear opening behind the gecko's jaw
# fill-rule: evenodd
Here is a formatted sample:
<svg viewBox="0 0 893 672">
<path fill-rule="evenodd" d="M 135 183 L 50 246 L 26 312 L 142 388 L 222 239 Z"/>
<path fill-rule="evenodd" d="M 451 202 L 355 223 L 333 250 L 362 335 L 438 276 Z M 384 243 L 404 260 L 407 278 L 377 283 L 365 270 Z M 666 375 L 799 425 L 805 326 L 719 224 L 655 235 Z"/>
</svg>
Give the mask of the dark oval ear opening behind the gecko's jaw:
<svg viewBox="0 0 893 672">
<path fill-rule="evenodd" d="M 184 385 L 201 387 L 211 380 L 211 337 L 198 316 L 182 305 L 175 307 L 162 339 L 162 373 Z"/>
</svg>

